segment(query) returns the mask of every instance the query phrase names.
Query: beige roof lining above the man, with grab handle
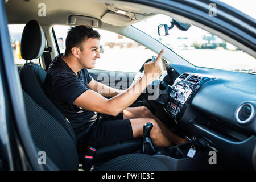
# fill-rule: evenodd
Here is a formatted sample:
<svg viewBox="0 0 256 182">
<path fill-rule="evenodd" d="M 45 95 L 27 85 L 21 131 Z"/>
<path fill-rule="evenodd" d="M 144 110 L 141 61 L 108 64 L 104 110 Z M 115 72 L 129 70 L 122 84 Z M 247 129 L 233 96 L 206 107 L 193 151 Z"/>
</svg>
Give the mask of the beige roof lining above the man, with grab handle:
<svg viewBox="0 0 256 182">
<path fill-rule="evenodd" d="M 139 9 L 138 7 L 133 8 L 122 2 L 115 2 L 116 1 L 110 4 L 105 3 L 104 1 L 76 0 L 74 3 L 74 1 L 69 0 L 45 0 L 43 3 L 46 5 L 46 16 L 39 16 L 39 3 L 41 2 L 9 0 L 6 3 L 6 13 L 9 24 L 25 24 L 29 20 L 35 19 L 38 20 L 42 26 L 49 24 L 68 24 L 70 15 L 89 16 L 102 20 L 104 23 L 114 24 L 115 26 L 128 26 L 147 18 L 148 16 L 154 15 L 147 9 Z M 72 11 L 70 10 L 71 7 L 73 7 Z M 111 11 L 113 8 L 133 13 L 137 19 L 130 20 L 129 16 Z M 115 21 L 113 21 L 113 19 L 115 19 Z"/>
</svg>

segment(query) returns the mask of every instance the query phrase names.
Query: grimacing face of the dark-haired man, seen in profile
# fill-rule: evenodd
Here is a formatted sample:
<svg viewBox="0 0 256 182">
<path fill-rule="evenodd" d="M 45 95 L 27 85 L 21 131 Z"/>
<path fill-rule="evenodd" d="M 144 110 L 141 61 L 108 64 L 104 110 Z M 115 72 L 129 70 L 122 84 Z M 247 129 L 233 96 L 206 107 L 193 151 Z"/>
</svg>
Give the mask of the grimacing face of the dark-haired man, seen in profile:
<svg viewBox="0 0 256 182">
<path fill-rule="evenodd" d="M 94 68 L 96 59 L 100 58 L 100 40 L 97 38 L 89 38 L 82 44 L 82 48 L 79 63 L 84 68 Z"/>
</svg>

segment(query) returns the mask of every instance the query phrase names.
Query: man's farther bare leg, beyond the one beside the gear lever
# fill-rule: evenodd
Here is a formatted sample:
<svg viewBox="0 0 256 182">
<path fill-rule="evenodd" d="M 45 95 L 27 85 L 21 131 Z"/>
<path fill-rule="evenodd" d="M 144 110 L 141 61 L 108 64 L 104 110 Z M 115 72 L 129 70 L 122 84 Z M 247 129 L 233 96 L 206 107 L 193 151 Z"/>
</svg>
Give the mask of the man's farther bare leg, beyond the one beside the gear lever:
<svg viewBox="0 0 256 182">
<path fill-rule="evenodd" d="M 174 143 L 174 144 L 181 144 L 187 142 L 187 140 L 177 136 L 176 134 L 172 133 L 158 118 L 156 118 L 147 107 L 127 107 L 123 110 L 123 118 L 124 119 L 131 119 L 131 118 L 151 118 L 158 123 L 160 129 L 162 130 L 163 134 L 166 138 Z M 154 127 L 153 127 L 154 128 Z"/>
</svg>

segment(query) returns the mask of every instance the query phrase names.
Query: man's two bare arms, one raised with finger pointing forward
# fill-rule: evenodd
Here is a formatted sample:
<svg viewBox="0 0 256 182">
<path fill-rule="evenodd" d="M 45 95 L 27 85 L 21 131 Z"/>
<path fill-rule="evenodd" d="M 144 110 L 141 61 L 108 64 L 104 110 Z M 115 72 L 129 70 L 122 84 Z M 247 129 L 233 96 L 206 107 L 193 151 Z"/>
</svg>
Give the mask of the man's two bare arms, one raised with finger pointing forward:
<svg viewBox="0 0 256 182">
<path fill-rule="evenodd" d="M 114 94 L 117 95 L 107 99 L 102 97 L 100 93 L 104 93 L 106 88 L 108 88 L 108 92 L 105 93 L 109 93 L 111 88 L 108 86 L 103 86 L 102 89 L 98 89 L 101 86 L 98 86 L 98 82 L 92 79 L 92 81 L 90 81 L 88 84 L 89 90 L 77 97 L 73 104 L 86 110 L 97 111 L 98 113 L 109 115 L 117 115 L 123 109 L 126 109 L 126 107 L 129 107 L 131 104 L 133 104 L 133 102 L 137 100 L 143 90 L 146 89 L 147 86 L 152 83 L 152 81 L 158 79 L 162 73 L 162 70 L 159 66 L 159 60 L 162 55 L 163 50 L 159 53 L 154 62 L 151 61 L 145 63 L 143 72 L 144 75 L 127 90 L 116 91 L 115 89 Z M 118 94 L 118 92 L 121 93 Z"/>
</svg>

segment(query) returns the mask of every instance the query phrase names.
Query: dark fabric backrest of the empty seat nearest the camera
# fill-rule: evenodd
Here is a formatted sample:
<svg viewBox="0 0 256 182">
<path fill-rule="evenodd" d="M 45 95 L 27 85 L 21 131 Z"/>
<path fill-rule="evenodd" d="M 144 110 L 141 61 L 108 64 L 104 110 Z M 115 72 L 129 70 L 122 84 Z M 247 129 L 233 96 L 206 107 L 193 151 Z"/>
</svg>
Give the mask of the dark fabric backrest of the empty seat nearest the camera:
<svg viewBox="0 0 256 182">
<path fill-rule="evenodd" d="M 60 170 L 77 170 L 79 158 L 76 145 L 63 126 L 23 91 L 28 126 L 35 146 Z M 46 158 L 46 162 L 47 162 Z"/>
</svg>

